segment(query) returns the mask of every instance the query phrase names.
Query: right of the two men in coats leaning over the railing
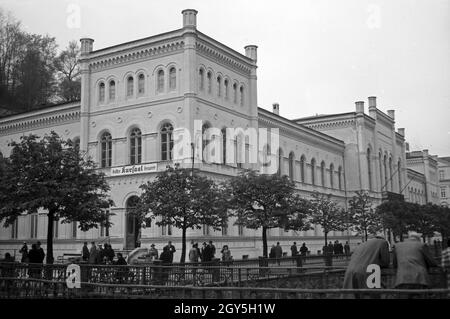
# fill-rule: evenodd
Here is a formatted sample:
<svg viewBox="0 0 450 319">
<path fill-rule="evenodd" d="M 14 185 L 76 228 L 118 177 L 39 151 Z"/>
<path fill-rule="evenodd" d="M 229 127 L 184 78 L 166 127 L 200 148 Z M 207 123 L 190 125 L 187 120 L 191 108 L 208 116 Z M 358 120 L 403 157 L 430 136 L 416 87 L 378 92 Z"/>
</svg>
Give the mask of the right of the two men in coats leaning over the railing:
<svg viewBox="0 0 450 319">
<path fill-rule="evenodd" d="M 404 242 L 395 244 L 394 268 L 397 268 L 395 288 L 425 289 L 430 286 L 428 269 L 437 267 L 430 253 L 420 241 L 420 235 L 412 232 Z"/>
</svg>

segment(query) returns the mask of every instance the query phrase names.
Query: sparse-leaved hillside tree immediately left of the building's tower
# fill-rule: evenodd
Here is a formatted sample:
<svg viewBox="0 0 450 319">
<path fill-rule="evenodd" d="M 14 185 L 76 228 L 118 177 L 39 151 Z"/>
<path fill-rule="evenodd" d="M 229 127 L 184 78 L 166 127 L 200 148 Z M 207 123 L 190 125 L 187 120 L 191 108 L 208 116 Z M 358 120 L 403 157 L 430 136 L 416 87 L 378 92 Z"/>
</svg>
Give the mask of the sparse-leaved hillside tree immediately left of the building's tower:
<svg viewBox="0 0 450 319">
<path fill-rule="evenodd" d="M 58 77 L 58 98 L 64 102 L 81 98 L 81 77 L 78 56 L 80 47 L 77 41 L 69 42 L 55 60 Z"/>
</svg>

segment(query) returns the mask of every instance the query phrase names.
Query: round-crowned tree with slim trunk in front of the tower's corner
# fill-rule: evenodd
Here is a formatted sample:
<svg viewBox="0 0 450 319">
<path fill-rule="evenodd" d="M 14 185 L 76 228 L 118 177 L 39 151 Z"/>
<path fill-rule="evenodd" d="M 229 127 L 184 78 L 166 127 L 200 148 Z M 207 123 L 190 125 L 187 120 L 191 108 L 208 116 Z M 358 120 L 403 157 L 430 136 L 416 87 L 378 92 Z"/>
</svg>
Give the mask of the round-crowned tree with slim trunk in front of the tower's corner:
<svg viewBox="0 0 450 319">
<path fill-rule="evenodd" d="M 136 208 L 138 221 L 150 223 L 160 217 L 158 226 L 171 225 L 182 231 L 180 262 L 186 258 L 186 231 L 203 225 L 216 230 L 226 225 L 227 202 L 224 191 L 214 181 L 190 169 L 168 168 L 154 181 L 141 185 Z"/>
</svg>

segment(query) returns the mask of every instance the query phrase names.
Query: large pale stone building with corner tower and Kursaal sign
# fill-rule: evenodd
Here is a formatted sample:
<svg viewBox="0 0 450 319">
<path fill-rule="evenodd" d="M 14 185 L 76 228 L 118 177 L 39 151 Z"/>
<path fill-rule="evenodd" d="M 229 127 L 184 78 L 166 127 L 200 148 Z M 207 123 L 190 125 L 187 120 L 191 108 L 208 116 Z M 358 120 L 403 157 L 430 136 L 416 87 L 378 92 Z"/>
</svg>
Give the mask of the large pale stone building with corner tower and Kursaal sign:
<svg viewBox="0 0 450 319">
<path fill-rule="evenodd" d="M 225 140 L 234 139 L 227 145 L 235 145 L 236 158 L 245 158 L 243 163 L 203 162 L 200 154 L 208 127 L 269 128 L 279 131 L 279 144 L 276 149 L 271 145 L 269 153 L 281 160 L 280 172 L 290 176 L 304 196 L 314 191 L 331 194 L 343 207 L 357 190 L 369 191 L 375 204 L 387 193 L 407 196 L 405 134 L 395 130 L 394 111 L 383 113 L 375 97 L 369 98 L 367 114 L 364 102 L 356 102 L 353 112 L 297 120 L 280 116 L 278 104 L 273 112 L 259 108 L 257 47 L 246 46 L 241 54 L 223 45 L 198 31 L 196 15 L 195 10 L 184 10 L 180 29 L 104 49 L 94 50 L 94 40 L 82 39 L 80 102 L 0 119 L 4 156 L 9 156 L 9 141 L 54 130 L 78 140 L 111 185 L 113 226 L 82 232 L 76 223 L 55 222 L 56 256 L 78 252 L 85 240 L 110 241 L 119 250 L 135 248 L 138 239 L 147 247 L 161 247 L 168 240 L 181 247 L 178 229 L 141 228 L 127 212 L 140 194 L 139 186 L 174 164 L 174 135 L 181 130 L 194 137 L 196 168 L 216 180 L 261 164 L 248 160 L 253 146 L 241 135 Z M 322 235 L 320 227 L 300 233 L 272 229 L 268 238 L 270 244 L 280 241 L 285 251 L 292 241 L 304 241 L 316 253 L 323 245 Z M 45 212 L 24 215 L 0 230 L 0 249 L 18 250 L 23 241 L 45 242 L 45 236 Z M 260 231 L 236 226 L 233 220 L 222 231 L 204 227 L 187 236 L 189 241 L 211 239 L 218 248 L 226 243 L 235 258 L 262 251 Z M 330 239 L 360 241 L 347 232 L 331 233 Z"/>
</svg>

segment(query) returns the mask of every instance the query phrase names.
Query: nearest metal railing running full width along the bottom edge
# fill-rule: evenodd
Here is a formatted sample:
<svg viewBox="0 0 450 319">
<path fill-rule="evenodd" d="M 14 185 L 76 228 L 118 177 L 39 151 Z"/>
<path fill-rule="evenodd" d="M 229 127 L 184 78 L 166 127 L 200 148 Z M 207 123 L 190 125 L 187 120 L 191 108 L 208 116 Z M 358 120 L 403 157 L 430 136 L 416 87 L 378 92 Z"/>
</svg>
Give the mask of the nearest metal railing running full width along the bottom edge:
<svg viewBox="0 0 450 319">
<path fill-rule="evenodd" d="M 0 278 L 0 298 L 103 299 L 449 299 L 450 289 L 286 289 L 260 287 L 178 287 L 87 283 L 69 289 L 65 283 L 43 279 Z"/>
</svg>

